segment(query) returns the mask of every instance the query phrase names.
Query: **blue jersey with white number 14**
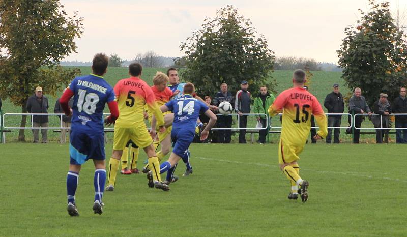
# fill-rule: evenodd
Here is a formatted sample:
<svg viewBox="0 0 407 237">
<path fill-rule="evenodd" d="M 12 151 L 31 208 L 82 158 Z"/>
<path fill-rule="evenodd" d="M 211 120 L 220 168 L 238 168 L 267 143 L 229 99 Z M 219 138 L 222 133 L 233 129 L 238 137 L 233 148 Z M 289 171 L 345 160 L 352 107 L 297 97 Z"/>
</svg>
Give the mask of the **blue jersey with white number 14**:
<svg viewBox="0 0 407 237">
<path fill-rule="evenodd" d="M 206 104 L 188 94 L 167 102 L 165 106 L 174 113 L 173 130 L 182 128 L 195 131 L 199 112 L 205 113 L 209 109 Z"/>
</svg>

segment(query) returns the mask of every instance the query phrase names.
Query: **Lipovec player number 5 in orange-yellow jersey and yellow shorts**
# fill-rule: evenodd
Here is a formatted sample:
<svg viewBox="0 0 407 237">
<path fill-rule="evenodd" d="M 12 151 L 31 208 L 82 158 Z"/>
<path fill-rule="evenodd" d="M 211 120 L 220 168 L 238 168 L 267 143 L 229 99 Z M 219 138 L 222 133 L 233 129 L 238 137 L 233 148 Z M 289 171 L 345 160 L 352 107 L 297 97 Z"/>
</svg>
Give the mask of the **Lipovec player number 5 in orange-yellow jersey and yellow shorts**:
<svg viewBox="0 0 407 237">
<path fill-rule="evenodd" d="M 142 67 L 138 63 L 129 65 L 130 78 L 120 80 L 114 86 L 119 106 L 119 119 L 114 124 L 113 154 L 109 162 L 109 178 L 107 191 L 113 191 L 120 158 L 126 143 L 131 139 L 147 154 L 151 171 L 147 174 L 149 187 L 159 188 L 164 191 L 169 187 L 161 181 L 160 162 L 154 151 L 153 140 L 144 123 L 144 104 L 157 117 L 160 132 L 164 132 L 164 119 L 160 108 L 154 98 L 150 86 L 139 77 Z"/>
</svg>

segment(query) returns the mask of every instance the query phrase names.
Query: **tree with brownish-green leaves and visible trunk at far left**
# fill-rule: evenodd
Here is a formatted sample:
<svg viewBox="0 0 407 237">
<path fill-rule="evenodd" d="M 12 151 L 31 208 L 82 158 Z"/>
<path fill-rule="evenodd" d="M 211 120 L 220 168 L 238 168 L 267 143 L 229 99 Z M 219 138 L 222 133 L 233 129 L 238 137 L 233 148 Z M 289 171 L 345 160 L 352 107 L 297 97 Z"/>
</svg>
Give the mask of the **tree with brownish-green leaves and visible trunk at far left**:
<svg viewBox="0 0 407 237">
<path fill-rule="evenodd" d="M 27 98 L 34 88 L 55 95 L 79 69 L 64 69 L 60 60 L 76 52 L 75 37 L 82 34 L 82 20 L 75 13 L 67 17 L 57 0 L 0 0 L 0 94 L 21 106 L 26 113 Z M 25 127 L 22 116 L 21 127 Z M 20 130 L 19 140 L 24 140 Z"/>
</svg>

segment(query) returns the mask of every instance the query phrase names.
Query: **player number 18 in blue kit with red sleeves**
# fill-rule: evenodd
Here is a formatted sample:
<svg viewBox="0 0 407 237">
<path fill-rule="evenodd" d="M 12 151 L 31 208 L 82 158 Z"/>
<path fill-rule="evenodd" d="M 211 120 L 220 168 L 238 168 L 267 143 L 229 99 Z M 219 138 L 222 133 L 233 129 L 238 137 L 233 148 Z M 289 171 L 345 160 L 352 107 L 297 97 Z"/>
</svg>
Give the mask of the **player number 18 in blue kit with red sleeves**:
<svg viewBox="0 0 407 237">
<path fill-rule="evenodd" d="M 105 147 L 103 136 L 103 109 L 107 103 L 110 116 L 104 122 L 112 124 L 119 117 L 118 104 L 113 88 L 103 79 L 106 73 L 108 57 L 98 53 L 93 58 L 92 74 L 76 77 L 69 84 L 60 99 L 66 115 L 72 115 L 70 135 L 70 165 L 67 175 L 68 214 L 79 216 L 75 202 L 79 171 L 83 163 L 93 159 L 95 164 L 95 214 L 102 214 L 102 196 L 106 181 Z M 68 101 L 74 97 L 72 108 Z"/>
</svg>

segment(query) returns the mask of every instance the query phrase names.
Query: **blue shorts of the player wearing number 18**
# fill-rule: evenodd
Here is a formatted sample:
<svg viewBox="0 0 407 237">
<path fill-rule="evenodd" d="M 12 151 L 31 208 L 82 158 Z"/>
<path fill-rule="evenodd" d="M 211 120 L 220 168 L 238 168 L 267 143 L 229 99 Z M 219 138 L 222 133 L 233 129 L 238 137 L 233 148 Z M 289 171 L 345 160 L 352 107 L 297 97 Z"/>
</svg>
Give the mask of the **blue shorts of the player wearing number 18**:
<svg viewBox="0 0 407 237">
<path fill-rule="evenodd" d="M 89 159 L 105 159 L 105 139 L 103 132 L 86 133 L 71 130 L 69 155 L 71 165 L 81 165 Z"/>
</svg>

